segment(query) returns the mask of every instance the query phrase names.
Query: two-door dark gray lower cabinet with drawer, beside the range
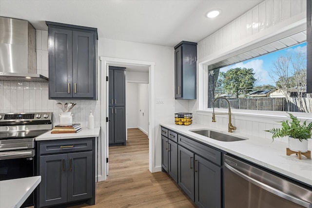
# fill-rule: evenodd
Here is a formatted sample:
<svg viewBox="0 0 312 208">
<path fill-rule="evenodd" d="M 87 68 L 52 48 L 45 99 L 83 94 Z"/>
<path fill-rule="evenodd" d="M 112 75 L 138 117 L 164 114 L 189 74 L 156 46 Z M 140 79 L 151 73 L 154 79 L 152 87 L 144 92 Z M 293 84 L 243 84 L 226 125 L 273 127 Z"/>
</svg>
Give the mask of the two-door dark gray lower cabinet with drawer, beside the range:
<svg viewBox="0 0 312 208">
<path fill-rule="evenodd" d="M 37 207 L 95 204 L 94 142 L 94 138 L 38 142 Z"/>
</svg>

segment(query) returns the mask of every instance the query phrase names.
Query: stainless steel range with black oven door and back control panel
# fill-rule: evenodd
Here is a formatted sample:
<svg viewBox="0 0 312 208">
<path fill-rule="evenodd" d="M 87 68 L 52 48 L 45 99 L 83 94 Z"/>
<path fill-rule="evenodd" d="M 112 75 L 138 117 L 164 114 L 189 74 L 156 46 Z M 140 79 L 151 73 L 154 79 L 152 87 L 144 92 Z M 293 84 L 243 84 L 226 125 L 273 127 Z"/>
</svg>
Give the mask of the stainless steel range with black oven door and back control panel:
<svg viewBox="0 0 312 208">
<path fill-rule="evenodd" d="M 0 113 L 0 181 L 36 175 L 35 137 L 52 129 L 52 113 Z M 32 193 L 22 207 L 34 206 Z"/>
</svg>

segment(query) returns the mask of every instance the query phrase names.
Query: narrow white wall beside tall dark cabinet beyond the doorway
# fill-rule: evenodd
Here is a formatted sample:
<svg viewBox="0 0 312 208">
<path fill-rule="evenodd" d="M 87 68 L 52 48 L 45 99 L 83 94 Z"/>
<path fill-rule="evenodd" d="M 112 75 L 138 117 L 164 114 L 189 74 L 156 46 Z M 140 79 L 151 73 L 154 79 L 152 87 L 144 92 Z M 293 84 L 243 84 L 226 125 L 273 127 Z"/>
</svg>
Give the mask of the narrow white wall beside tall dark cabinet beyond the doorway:
<svg viewBox="0 0 312 208">
<path fill-rule="evenodd" d="M 126 82 L 126 112 L 127 128 L 137 128 L 138 126 L 138 84 Z"/>
</svg>

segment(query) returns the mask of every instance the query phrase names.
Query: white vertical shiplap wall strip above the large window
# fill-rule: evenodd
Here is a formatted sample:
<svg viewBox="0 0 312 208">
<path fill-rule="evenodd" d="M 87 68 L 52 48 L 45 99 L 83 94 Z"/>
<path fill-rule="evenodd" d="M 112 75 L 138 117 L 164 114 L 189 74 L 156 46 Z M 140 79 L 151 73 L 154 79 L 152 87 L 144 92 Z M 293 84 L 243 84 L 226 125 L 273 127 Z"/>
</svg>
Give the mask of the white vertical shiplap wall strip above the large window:
<svg viewBox="0 0 312 208">
<path fill-rule="evenodd" d="M 197 45 L 197 58 L 212 55 L 295 15 L 305 13 L 306 9 L 306 0 L 265 0 L 201 40 Z"/>
</svg>

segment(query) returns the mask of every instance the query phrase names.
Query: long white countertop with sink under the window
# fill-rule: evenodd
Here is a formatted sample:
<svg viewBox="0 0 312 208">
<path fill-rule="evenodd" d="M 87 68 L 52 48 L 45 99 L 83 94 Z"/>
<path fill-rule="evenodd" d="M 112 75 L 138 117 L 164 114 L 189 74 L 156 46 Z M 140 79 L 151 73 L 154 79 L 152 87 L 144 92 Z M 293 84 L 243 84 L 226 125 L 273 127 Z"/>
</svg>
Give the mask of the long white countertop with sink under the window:
<svg viewBox="0 0 312 208">
<path fill-rule="evenodd" d="M 287 156 L 286 148 L 288 147 L 288 143 L 280 141 L 272 142 L 270 139 L 250 135 L 246 136 L 236 132 L 228 133 L 227 130 L 220 131 L 195 123 L 189 126 L 172 123 L 162 123 L 160 125 L 312 186 L 312 160 L 307 159 L 305 156 L 302 156 L 302 159 L 299 160 L 295 154 Z M 189 131 L 194 129 L 212 129 L 249 139 L 222 142 Z"/>
</svg>

